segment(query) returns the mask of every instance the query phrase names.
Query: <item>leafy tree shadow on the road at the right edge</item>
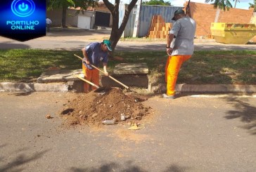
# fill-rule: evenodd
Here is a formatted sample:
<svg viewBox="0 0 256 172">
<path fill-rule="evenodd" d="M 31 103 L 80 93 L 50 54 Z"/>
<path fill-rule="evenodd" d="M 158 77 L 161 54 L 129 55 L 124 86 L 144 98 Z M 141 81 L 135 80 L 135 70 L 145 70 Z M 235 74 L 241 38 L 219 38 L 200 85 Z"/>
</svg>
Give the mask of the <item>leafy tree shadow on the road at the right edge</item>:
<svg viewBox="0 0 256 172">
<path fill-rule="evenodd" d="M 247 129 L 252 135 L 256 135 L 256 107 L 250 105 L 246 100 L 238 100 L 237 98 L 227 98 L 236 110 L 229 110 L 226 119 L 241 119 L 245 123 L 243 128 Z"/>
</svg>

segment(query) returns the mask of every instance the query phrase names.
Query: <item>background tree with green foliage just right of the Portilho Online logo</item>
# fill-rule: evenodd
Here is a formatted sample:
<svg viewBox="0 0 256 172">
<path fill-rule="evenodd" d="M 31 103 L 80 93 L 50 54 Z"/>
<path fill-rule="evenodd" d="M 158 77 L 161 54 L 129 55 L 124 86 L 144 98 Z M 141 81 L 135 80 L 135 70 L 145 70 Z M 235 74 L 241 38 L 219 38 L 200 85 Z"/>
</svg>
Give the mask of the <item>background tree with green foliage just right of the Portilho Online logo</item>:
<svg viewBox="0 0 256 172">
<path fill-rule="evenodd" d="M 98 6 L 98 0 L 47 0 L 46 1 L 47 11 L 62 8 L 62 20 L 61 20 L 61 26 L 66 26 L 66 15 L 67 15 L 67 9 L 69 6 L 79 6 L 80 9 L 77 11 L 77 14 L 79 11 L 86 10 L 89 6 L 95 7 Z"/>
</svg>

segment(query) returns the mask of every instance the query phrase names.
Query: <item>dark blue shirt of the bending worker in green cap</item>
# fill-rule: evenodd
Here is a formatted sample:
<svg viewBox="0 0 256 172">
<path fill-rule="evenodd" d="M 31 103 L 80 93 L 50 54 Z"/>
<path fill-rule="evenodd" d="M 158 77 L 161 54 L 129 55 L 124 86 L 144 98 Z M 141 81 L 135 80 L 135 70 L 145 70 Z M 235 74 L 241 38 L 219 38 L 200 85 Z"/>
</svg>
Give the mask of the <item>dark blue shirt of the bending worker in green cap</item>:
<svg viewBox="0 0 256 172">
<path fill-rule="evenodd" d="M 92 42 L 91 44 L 89 44 L 88 46 L 85 47 L 85 51 L 87 51 L 89 62 L 96 67 L 98 67 L 100 61 L 105 62 L 105 63 L 108 62 L 108 52 L 101 50 L 101 43 Z M 84 60 L 85 60 L 85 58 L 84 58 Z M 84 65 L 89 70 L 94 69 L 90 65 L 87 65 L 86 62 L 84 62 Z"/>
</svg>

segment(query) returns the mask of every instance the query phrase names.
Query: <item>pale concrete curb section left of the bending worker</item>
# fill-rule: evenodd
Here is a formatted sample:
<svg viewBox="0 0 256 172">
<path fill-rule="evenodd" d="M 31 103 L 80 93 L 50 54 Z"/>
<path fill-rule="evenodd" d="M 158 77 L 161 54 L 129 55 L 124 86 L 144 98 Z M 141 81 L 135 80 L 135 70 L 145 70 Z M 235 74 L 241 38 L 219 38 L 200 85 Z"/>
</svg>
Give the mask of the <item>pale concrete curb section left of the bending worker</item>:
<svg viewBox="0 0 256 172">
<path fill-rule="evenodd" d="M 67 84 L 38 84 L 0 82 L 0 91 L 6 92 L 68 92 Z"/>
</svg>

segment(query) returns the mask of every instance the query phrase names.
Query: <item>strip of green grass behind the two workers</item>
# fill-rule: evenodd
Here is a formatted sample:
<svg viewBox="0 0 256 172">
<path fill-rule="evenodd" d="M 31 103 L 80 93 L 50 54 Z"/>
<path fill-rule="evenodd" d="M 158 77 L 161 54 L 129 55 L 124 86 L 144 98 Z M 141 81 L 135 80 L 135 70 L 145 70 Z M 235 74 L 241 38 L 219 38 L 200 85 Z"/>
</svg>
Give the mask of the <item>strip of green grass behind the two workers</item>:
<svg viewBox="0 0 256 172">
<path fill-rule="evenodd" d="M 36 81 L 49 67 L 74 70 L 81 68 L 80 51 L 50 51 L 35 49 L 0 50 L 0 81 Z M 115 52 L 124 60 L 110 60 L 108 71 L 120 62 L 146 62 L 149 77 L 164 83 L 164 51 Z M 178 84 L 256 84 L 256 51 L 195 51 L 181 67 Z"/>
</svg>

